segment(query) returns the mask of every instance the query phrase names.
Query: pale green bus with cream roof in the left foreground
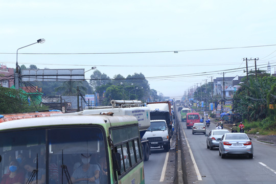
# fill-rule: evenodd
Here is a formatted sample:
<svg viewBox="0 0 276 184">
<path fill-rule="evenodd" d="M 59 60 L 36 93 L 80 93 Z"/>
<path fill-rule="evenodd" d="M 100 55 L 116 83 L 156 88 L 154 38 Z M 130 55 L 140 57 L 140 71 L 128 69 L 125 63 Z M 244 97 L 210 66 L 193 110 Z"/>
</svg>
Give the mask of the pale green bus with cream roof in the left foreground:
<svg viewBox="0 0 276 184">
<path fill-rule="evenodd" d="M 0 171 L 21 183 L 145 183 L 138 121 L 106 113 L 0 123 Z"/>
</svg>

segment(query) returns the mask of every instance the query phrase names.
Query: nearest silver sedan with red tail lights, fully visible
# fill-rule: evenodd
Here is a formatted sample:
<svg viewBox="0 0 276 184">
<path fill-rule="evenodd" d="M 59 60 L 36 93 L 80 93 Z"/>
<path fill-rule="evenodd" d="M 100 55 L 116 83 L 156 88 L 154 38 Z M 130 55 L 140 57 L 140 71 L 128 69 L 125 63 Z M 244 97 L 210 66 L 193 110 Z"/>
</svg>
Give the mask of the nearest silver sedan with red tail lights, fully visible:
<svg viewBox="0 0 276 184">
<path fill-rule="evenodd" d="M 225 133 L 217 140 L 220 141 L 221 158 L 225 158 L 226 155 L 248 155 L 248 158 L 253 158 L 253 145 L 246 133 Z"/>
</svg>

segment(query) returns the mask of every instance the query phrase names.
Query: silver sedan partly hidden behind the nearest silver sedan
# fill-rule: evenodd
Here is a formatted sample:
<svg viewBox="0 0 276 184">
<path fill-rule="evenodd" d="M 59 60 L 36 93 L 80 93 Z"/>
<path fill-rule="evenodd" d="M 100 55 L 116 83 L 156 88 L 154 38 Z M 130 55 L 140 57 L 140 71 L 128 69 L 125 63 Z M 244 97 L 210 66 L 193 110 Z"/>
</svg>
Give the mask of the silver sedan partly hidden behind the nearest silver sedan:
<svg viewBox="0 0 276 184">
<path fill-rule="evenodd" d="M 207 149 L 210 148 L 210 150 L 212 150 L 213 148 L 218 148 L 219 147 L 219 141 L 217 140 L 218 138 L 221 138 L 222 135 L 224 135 L 225 133 L 229 133 L 228 130 L 225 129 L 216 129 L 216 130 L 212 130 L 207 136 L 206 139 L 206 145 L 207 145 Z"/>
</svg>

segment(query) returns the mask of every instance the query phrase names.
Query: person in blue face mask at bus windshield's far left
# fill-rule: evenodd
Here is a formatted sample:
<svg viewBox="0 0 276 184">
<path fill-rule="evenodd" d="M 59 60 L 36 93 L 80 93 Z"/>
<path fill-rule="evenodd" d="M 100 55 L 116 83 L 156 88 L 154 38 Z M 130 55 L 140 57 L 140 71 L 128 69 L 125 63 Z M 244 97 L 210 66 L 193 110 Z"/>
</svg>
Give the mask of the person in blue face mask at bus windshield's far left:
<svg viewBox="0 0 276 184">
<path fill-rule="evenodd" d="M 19 164 L 16 160 L 10 162 L 9 167 L 10 173 L 4 174 L 2 177 L 1 184 L 23 184 L 24 183 L 24 172 L 19 170 Z"/>
</svg>

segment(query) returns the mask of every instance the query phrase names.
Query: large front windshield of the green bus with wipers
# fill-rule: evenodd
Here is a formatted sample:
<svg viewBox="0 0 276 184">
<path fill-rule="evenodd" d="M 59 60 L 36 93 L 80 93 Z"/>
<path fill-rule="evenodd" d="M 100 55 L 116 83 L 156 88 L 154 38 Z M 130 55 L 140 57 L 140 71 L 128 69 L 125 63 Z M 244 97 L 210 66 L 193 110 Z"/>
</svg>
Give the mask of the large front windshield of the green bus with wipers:
<svg viewBox="0 0 276 184">
<path fill-rule="evenodd" d="M 68 183 L 68 180 L 86 182 L 93 176 L 96 176 L 93 183 L 106 183 L 107 178 L 101 177 L 103 170 L 108 171 L 109 162 L 103 140 L 102 130 L 95 127 L 2 132 L 2 182 L 9 183 L 6 179 L 12 174 L 16 176 L 12 183 L 32 183 L 36 179 L 38 183 L 50 184 Z M 84 173 L 83 167 L 88 171 Z"/>
</svg>

